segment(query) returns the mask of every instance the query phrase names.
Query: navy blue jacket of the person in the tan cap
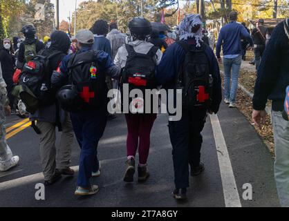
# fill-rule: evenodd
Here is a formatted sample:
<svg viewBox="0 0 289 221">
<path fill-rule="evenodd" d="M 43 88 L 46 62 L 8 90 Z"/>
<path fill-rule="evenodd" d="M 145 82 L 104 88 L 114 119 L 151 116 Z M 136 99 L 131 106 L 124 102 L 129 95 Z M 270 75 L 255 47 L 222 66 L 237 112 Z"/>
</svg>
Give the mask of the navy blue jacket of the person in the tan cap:
<svg viewBox="0 0 289 221">
<path fill-rule="evenodd" d="M 91 50 L 91 48 L 84 47 L 79 52 L 86 52 L 88 50 Z M 71 55 L 64 57 L 60 66 L 60 73 L 54 72 L 51 76 L 51 83 L 54 86 L 60 87 L 68 83 L 68 61 L 70 59 Z M 106 73 L 113 79 L 118 79 L 120 76 L 120 68 L 113 64 L 111 57 L 106 52 L 102 50 L 97 51 L 95 63 L 100 73 Z"/>
</svg>

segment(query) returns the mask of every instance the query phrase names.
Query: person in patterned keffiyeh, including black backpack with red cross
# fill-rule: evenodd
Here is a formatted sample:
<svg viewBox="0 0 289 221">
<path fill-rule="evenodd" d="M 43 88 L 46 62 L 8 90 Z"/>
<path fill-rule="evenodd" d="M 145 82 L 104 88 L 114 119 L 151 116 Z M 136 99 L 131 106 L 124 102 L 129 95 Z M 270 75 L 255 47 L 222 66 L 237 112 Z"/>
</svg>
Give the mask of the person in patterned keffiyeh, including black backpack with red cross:
<svg viewBox="0 0 289 221">
<path fill-rule="evenodd" d="M 201 162 L 201 131 L 207 113 L 217 113 L 222 99 L 218 61 L 212 49 L 202 41 L 201 26 L 200 15 L 187 15 L 183 19 L 180 23 L 180 41 L 167 48 L 156 75 L 159 84 L 175 89 L 175 102 L 176 89 L 183 88 L 188 92 L 183 92 L 181 119 L 169 121 L 176 186 L 173 194 L 176 200 L 187 198 L 189 166 L 192 176 L 201 174 L 205 169 Z M 196 70 L 199 70 L 198 78 Z"/>
</svg>

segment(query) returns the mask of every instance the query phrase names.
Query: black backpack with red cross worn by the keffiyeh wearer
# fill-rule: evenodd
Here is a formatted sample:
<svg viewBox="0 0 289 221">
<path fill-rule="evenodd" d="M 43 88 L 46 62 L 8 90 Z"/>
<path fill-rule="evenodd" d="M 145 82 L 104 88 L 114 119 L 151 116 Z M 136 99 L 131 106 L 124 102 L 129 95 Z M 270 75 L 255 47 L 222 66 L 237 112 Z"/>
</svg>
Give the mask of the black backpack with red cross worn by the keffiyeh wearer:
<svg viewBox="0 0 289 221">
<path fill-rule="evenodd" d="M 205 44 L 196 48 L 186 41 L 178 41 L 185 50 L 185 59 L 177 76 L 177 88 L 183 90 L 183 107 L 206 106 L 212 104 L 213 78 L 210 73 L 209 59 L 205 53 Z"/>
</svg>

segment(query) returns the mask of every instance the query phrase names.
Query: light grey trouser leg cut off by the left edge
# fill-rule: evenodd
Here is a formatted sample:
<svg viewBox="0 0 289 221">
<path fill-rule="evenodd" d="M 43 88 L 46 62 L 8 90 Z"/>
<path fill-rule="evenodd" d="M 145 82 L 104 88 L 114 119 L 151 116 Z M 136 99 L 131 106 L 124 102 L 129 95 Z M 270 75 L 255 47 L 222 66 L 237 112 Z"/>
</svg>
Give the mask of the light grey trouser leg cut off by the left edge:
<svg viewBox="0 0 289 221">
<path fill-rule="evenodd" d="M 12 152 L 6 142 L 6 113 L 3 104 L 0 102 L 0 162 L 7 162 L 12 158 Z"/>
</svg>

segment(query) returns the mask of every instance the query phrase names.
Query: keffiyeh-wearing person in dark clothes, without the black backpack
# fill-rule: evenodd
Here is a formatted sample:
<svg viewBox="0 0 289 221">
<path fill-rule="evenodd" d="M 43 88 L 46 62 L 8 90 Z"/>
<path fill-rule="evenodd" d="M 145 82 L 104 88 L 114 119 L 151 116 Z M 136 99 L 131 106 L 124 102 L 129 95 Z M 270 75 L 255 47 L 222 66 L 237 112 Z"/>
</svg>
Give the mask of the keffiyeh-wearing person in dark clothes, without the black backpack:
<svg viewBox="0 0 289 221">
<path fill-rule="evenodd" d="M 173 192 L 176 200 L 186 198 L 189 186 L 189 166 L 191 175 L 199 175 L 205 169 L 201 160 L 203 137 L 201 131 L 205 126 L 207 113 L 217 113 L 221 103 L 221 77 L 218 61 L 209 46 L 202 41 L 202 19 L 200 15 L 187 15 L 180 23 L 180 41 L 190 48 L 203 50 L 209 61 L 209 71 L 213 78 L 212 105 L 182 108 L 182 117 L 178 121 L 169 121 L 169 135 L 173 147 L 174 176 L 176 189 Z M 185 59 L 185 49 L 176 42 L 165 51 L 157 68 L 156 79 L 166 89 L 176 89 L 176 79 Z M 176 91 L 176 90 L 174 90 Z M 176 101 L 176 97 L 174 99 Z"/>
</svg>

